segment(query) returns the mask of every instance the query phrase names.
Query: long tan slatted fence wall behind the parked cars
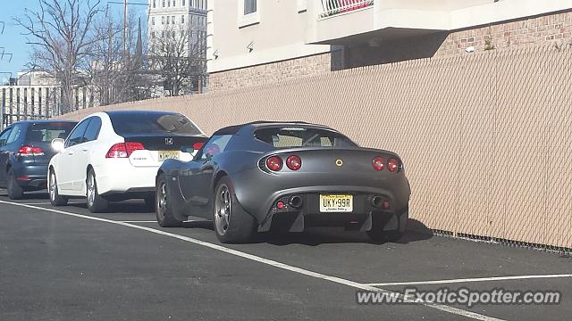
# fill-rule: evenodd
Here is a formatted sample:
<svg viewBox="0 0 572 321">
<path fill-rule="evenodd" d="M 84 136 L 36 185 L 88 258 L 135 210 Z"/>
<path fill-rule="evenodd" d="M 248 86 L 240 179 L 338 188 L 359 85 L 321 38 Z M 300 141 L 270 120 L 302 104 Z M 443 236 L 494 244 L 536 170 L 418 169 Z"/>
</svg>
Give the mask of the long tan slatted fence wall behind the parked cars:
<svg viewBox="0 0 572 321">
<path fill-rule="evenodd" d="M 105 109 L 181 111 L 207 133 L 257 119 L 323 123 L 400 153 L 411 217 L 425 226 L 572 248 L 570 86 L 572 47 L 527 47 Z"/>
</svg>

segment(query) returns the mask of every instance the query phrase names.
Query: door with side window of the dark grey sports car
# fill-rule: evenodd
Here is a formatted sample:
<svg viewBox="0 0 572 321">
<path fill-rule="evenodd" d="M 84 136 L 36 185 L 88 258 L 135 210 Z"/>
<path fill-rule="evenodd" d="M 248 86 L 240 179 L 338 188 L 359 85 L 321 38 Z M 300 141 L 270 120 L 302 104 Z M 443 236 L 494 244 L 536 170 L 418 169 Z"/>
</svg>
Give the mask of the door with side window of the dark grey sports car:
<svg viewBox="0 0 572 321">
<path fill-rule="evenodd" d="M 216 156 L 224 152 L 231 137 L 231 135 L 212 136 L 195 160 L 190 161 L 185 170 L 180 172 L 181 192 L 191 205 L 206 206 L 208 204 L 212 196 L 210 187 L 217 165 Z"/>
</svg>

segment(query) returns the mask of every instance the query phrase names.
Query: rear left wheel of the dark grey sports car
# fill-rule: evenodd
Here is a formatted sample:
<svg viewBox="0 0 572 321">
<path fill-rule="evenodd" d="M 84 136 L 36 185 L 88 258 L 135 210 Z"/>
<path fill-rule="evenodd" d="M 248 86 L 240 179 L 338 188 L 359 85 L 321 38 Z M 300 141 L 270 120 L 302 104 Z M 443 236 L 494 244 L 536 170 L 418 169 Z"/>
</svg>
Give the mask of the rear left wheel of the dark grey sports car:
<svg viewBox="0 0 572 321">
<path fill-rule="evenodd" d="M 214 233 L 219 241 L 248 243 L 253 239 L 257 220 L 242 209 L 228 177 L 221 178 L 214 188 L 213 202 Z"/>
</svg>

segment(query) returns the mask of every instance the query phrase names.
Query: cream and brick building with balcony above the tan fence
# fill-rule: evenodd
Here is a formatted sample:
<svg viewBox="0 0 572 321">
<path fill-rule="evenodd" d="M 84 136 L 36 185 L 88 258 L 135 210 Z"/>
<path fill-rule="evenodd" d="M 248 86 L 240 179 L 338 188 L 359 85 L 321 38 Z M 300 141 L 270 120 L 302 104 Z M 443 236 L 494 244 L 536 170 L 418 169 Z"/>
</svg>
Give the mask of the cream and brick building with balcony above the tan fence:
<svg viewBox="0 0 572 321">
<path fill-rule="evenodd" d="M 412 59 L 572 45 L 570 0 L 209 1 L 212 90 Z"/>
</svg>

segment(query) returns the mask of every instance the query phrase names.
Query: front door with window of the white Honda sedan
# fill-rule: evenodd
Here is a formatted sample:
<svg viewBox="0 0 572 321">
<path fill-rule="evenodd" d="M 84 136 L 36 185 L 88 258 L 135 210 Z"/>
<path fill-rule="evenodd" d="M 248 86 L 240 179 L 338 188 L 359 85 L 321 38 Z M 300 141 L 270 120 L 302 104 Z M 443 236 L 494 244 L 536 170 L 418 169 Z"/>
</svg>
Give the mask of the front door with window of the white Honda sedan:
<svg viewBox="0 0 572 321">
<path fill-rule="evenodd" d="M 83 143 L 83 135 L 88 128 L 89 120 L 91 119 L 82 120 L 78 126 L 73 128 L 70 136 L 65 140 L 65 148 L 57 164 L 58 172 L 56 173 L 58 187 L 62 190 L 63 194 L 65 194 L 64 191 L 71 194 L 79 194 L 75 189 L 78 185 L 77 181 L 85 179 L 86 177 L 86 169 L 81 167 L 81 160 L 83 158 L 81 143 Z"/>
</svg>

